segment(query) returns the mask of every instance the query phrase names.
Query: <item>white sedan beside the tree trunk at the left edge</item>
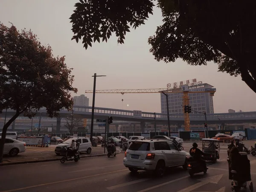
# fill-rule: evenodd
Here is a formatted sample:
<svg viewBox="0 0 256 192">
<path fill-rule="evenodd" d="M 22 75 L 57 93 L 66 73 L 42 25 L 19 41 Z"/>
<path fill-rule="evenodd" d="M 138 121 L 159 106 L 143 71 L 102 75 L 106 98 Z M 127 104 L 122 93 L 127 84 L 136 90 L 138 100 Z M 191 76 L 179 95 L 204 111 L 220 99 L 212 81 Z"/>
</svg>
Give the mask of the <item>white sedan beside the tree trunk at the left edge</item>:
<svg viewBox="0 0 256 192">
<path fill-rule="evenodd" d="M 1 137 L 0 137 L 1 140 Z M 26 151 L 26 143 L 12 138 L 7 138 L 3 147 L 3 154 L 9 154 L 11 157 L 16 156 L 18 153 Z"/>
</svg>

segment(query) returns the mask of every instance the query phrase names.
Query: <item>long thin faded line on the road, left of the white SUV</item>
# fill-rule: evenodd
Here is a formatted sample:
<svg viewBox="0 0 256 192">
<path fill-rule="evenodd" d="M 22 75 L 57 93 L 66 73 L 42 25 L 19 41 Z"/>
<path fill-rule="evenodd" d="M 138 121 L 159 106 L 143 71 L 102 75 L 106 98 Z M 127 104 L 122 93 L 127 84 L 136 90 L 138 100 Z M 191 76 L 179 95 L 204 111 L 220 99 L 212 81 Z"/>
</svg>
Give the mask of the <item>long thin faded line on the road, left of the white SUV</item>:
<svg viewBox="0 0 256 192">
<path fill-rule="evenodd" d="M 96 175 L 88 175 L 88 176 L 84 176 L 84 177 L 77 177 L 77 178 L 67 179 L 67 180 L 60 180 L 60 181 L 55 181 L 55 182 L 51 182 L 51 183 L 43 183 L 43 184 L 39 184 L 39 185 L 27 186 L 27 187 L 22 187 L 19 189 L 11 189 L 11 190 L 1 191 L 1 192 L 12 192 L 12 191 L 19 191 L 19 190 L 24 190 L 24 189 L 31 189 L 31 188 L 39 187 L 39 186 L 52 185 L 52 184 L 56 184 L 56 183 L 64 183 L 64 182 L 68 182 L 68 181 L 80 180 L 80 179 L 85 179 L 85 178 L 90 178 L 90 177 L 97 177 L 97 176 L 101 176 L 101 175 L 108 175 L 111 173 L 118 173 L 118 172 L 123 172 L 123 171 L 128 171 L 128 169 L 122 169 L 122 170 L 118 170 L 118 171 L 114 171 L 114 172 L 101 173 L 101 174 L 96 174 Z"/>
</svg>

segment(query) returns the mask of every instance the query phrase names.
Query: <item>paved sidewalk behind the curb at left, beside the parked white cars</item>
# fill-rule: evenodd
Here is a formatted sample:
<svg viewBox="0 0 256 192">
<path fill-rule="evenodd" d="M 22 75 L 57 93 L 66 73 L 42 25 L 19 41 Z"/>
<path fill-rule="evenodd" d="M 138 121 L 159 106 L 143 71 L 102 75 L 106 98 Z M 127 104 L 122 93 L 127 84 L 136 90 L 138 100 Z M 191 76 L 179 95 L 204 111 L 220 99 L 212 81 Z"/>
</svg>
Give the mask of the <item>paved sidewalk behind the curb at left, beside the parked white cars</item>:
<svg viewBox="0 0 256 192">
<path fill-rule="evenodd" d="M 23 164 L 23 163 L 36 163 L 36 162 L 46 162 L 46 161 L 55 161 L 60 160 L 61 156 L 58 156 L 54 152 L 55 146 L 49 145 L 47 148 L 41 147 L 26 147 L 26 152 L 19 153 L 16 157 L 10 157 L 9 155 L 3 156 L 3 163 L 0 163 L 0 166 L 4 165 L 13 165 L 13 164 Z M 118 147 L 116 151 L 118 152 Z M 107 154 L 107 149 L 106 149 Z M 93 147 L 91 154 L 82 152 L 80 158 L 101 156 L 104 154 L 104 148 L 101 146 Z"/>
</svg>

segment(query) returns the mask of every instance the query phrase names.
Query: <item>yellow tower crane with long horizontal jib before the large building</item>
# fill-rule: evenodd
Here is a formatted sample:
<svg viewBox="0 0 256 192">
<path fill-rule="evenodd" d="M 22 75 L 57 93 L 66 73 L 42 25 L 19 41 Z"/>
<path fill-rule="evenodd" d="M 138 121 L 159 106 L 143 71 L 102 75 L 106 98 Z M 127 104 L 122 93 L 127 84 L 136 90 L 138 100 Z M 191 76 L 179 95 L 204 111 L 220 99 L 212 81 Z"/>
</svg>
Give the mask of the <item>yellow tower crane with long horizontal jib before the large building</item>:
<svg viewBox="0 0 256 192">
<path fill-rule="evenodd" d="M 210 96 L 214 96 L 216 92 L 215 88 L 192 88 L 189 89 L 187 85 L 183 85 L 180 88 L 175 89 L 115 89 L 115 90 L 96 90 L 95 93 L 183 93 L 183 113 L 184 113 L 184 125 L 185 131 L 190 131 L 189 113 L 185 113 L 185 105 L 189 105 L 189 93 L 210 93 Z M 85 93 L 93 93 L 93 90 L 85 90 Z"/>
</svg>

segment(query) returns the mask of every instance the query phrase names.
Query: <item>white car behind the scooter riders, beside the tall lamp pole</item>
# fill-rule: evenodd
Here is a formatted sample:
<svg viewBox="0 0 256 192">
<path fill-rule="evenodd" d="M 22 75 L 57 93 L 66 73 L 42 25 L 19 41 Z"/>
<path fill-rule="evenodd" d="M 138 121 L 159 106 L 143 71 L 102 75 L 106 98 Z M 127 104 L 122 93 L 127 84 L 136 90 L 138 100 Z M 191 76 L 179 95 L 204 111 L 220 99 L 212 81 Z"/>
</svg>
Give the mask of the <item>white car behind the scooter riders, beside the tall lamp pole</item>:
<svg viewBox="0 0 256 192">
<path fill-rule="evenodd" d="M 70 147 L 72 140 L 75 140 L 76 143 L 80 143 L 79 151 L 80 152 L 87 152 L 87 154 L 90 154 L 92 151 L 92 143 L 90 142 L 90 139 L 87 137 L 73 137 L 70 138 L 63 143 L 58 144 L 55 147 L 55 154 L 60 155 L 61 154 L 61 148 L 64 147 Z"/>
</svg>

